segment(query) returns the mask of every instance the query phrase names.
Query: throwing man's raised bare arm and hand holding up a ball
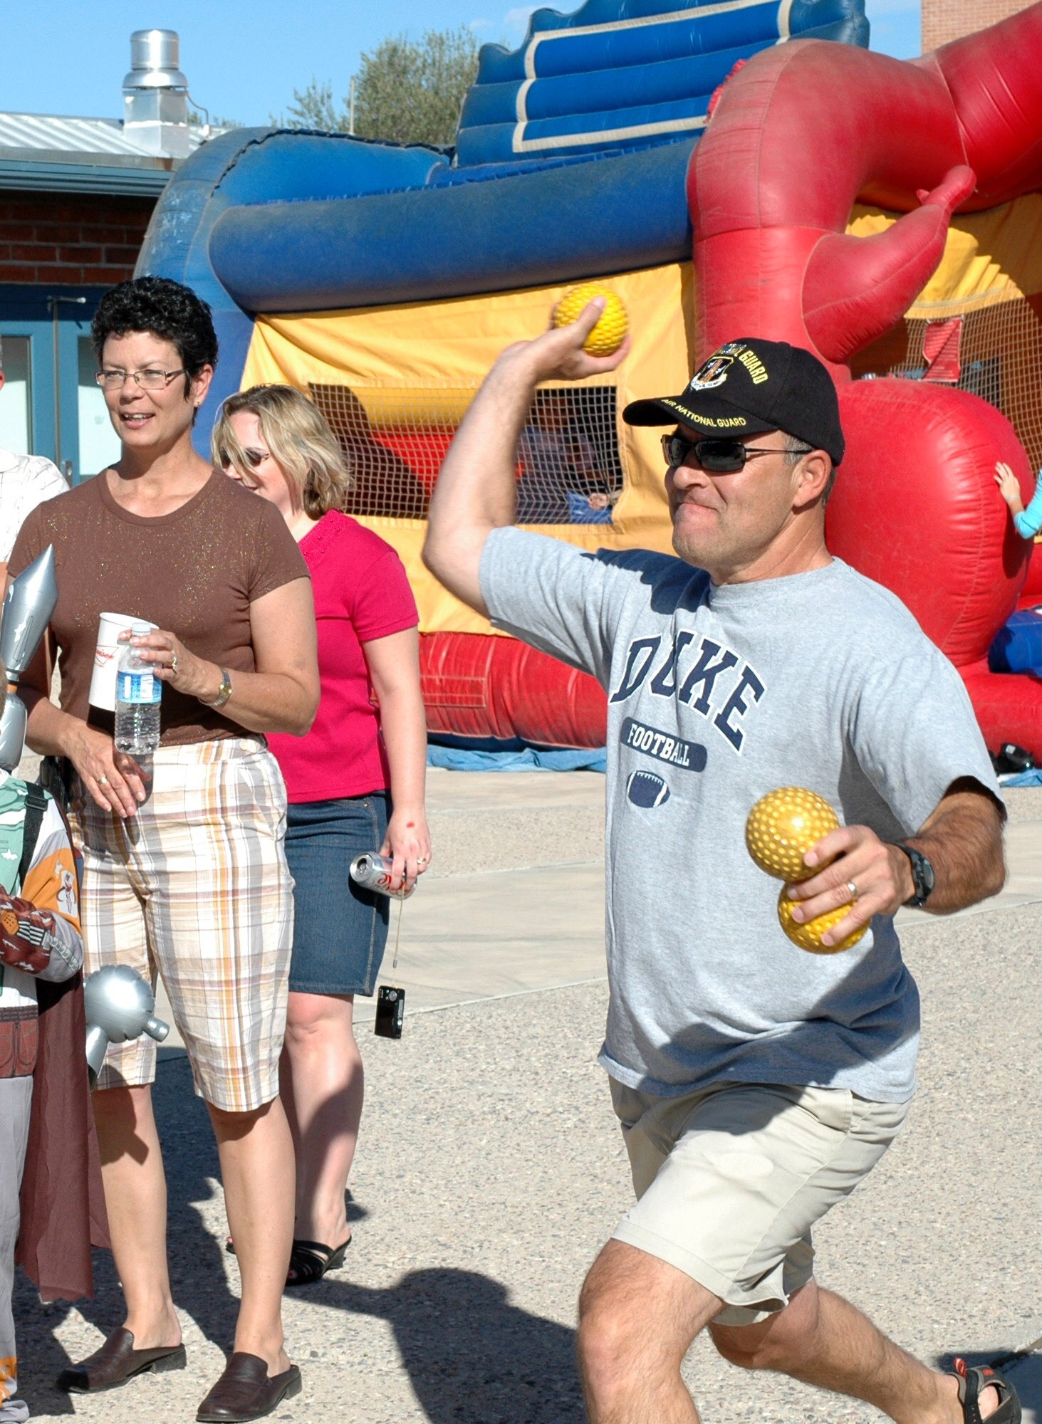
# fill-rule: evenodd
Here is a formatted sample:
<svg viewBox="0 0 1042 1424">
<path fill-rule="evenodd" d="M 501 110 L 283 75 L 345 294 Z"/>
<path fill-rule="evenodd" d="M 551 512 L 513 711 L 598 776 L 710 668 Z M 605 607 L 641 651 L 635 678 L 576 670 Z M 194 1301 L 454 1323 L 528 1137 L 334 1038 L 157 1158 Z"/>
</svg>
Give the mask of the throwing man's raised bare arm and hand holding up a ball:
<svg viewBox="0 0 1042 1424">
<path fill-rule="evenodd" d="M 487 614 L 481 553 L 495 528 L 514 523 L 514 466 L 535 387 L 542 380 L 581 380 L 614 370 L 629 342 L 612 356 L 588 356 L 582 343 L 605 306 L 595 298 L 571 326 L 508 346 L 485 376 L 441 466 L 427 511 L 423 561 L 450 592 Z"/>
</svg>

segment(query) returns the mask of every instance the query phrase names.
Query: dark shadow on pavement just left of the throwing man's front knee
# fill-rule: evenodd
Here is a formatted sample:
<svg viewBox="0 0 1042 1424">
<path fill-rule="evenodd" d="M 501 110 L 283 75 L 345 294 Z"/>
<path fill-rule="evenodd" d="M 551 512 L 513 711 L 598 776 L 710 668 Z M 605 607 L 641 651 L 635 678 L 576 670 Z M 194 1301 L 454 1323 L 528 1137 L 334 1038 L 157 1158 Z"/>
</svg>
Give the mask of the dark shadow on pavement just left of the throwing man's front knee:
<svg viewBox="0 0 1042 1424">
<path fill-rule="evenodd" d="M 581 1424 L 575 1331 L 511 1306 L 474 1270 L 413 1270 L 387 1290 L 323 1280 L 309 1296 L 376 1316 L 431 1424 Z"/>
</svg>

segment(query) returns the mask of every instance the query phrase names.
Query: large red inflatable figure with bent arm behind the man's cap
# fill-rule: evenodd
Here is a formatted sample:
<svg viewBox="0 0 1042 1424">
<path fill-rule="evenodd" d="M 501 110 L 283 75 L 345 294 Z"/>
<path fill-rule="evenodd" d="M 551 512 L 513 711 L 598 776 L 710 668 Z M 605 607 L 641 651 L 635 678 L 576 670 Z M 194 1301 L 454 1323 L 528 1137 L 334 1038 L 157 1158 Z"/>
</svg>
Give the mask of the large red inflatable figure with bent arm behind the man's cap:
<svg viewBox="0 0 1042 1424">
<path fill-rule="evenodd" d="M 840 386 L 847 459 L 830 548 L 893 588 L 961 671 L 991 746 L 1042 755 L 1042 682 L 992 675 L 988 645 L 1023 588 L 1031 544 L 995 497 L 1028 457 L 985 402 L 847 362 L 900 320 L 948 221 L 1042 187 L 1042 4 L 914 63 L 796 41 L 726 84 L 695 150 L 689 206 L 698 357 L 739 333 L 806 346 Z M 856 201 L 901 216 L 856 238 Z M 1031 587 L 1042 585 L 1035 560 Z"/>
</svg>

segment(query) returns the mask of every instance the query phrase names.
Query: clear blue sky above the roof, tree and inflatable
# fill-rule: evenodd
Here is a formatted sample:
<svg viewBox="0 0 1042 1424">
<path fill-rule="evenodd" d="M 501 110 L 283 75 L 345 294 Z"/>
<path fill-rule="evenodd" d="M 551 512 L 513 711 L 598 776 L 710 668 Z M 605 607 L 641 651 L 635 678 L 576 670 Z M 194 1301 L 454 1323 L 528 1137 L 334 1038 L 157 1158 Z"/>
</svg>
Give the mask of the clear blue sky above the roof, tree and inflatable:
<svg viewBox="0 0 1042 1424">
<path fill-rule="evenodd" d="M 574 10 L 577 4 L 558 3 Z M 495 0 L 137 0 L 131 7 L 84 0 L 4 0 L 0 110 L 118 118 L 130 68 L 131 30 L 181 34 L 181 68 L 196 104 L 243 124 L 283 112 L 293 90 L 330 80 L 346 94 L 359 56 L 389 34 L 473 26 L 484 41 L 518 44 L 531 6 Z M 867 0 L 873 48 L 897 58 L 920 53 L 918 0 Z M 41 13 L 46 24 L 41 24 Z"/>
</svg>

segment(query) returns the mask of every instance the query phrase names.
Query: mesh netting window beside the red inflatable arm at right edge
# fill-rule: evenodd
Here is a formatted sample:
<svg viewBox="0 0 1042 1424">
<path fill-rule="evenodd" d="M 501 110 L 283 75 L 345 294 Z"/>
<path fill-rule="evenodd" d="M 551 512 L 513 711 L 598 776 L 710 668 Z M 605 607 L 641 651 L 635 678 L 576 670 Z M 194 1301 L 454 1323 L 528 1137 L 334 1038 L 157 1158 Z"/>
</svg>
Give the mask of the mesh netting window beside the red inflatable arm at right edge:
<svg viewBox="0 0 1042 1424">
<path fill-rule="evenodd" d="M 934 362 L 924 356 L 941 346 L 949 325 L 947 352 Z M 1016 430 L 1032 468 L 1042 466 L 1042 322 L 1026 298 L 1008 290 L 957 302 L 918 303 L 905 318 L 907 346 L 894 360 L 883 355 L 867 369 L 878 375 L 942 380 L 996 406 Z M 931 343 L 931 335 L 938 337 Z M 890 346 L 890 343 L 887 343 Z M 868 353 L 865 353 L 868 355 Z M 945 357 L 957 359 L 958 379 L 945 382 Z"/>
</svg>

